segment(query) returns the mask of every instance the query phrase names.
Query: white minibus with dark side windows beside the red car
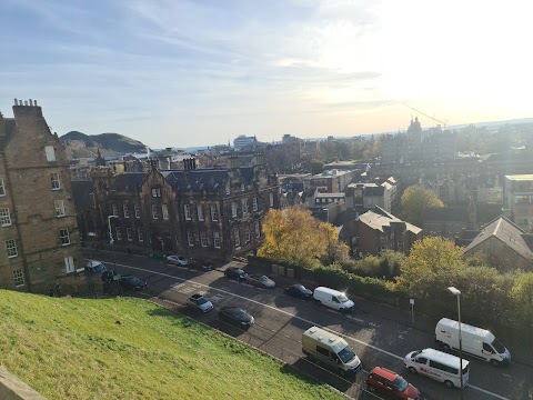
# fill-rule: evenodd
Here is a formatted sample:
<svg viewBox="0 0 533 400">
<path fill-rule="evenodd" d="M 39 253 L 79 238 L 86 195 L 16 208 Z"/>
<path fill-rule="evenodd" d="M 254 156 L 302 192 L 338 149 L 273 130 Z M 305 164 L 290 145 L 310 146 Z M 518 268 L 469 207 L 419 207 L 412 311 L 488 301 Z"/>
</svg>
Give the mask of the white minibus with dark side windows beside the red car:
<svg viewBox="0 0 533 400">
<path fill-rule="evenodd" d="M 449 388 L 461 387 L 459 374 L 461 359 L 435 350 L 424 349 L 411 351 L 403 359 L 403 366 L 411 373 L 420 373 L 444 382 Z M 463 388 L 469 383 L 470 362 L 463 359 Z"/>
</svg>

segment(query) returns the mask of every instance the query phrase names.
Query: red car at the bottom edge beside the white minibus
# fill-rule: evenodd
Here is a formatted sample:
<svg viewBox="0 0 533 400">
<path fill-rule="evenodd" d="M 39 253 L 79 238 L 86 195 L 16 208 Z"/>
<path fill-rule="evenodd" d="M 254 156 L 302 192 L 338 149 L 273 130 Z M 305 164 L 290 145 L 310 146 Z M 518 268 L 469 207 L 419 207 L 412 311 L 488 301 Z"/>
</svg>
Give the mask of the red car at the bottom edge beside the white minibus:
<svg viewBox="0 0 533 400">
<path fill-rule="evenodd" d="M 388 394 L 393 399 L 419 400 L 420 391 L 396 372 L 375 367 L 366 378 L 366 387 L 371 392 Z"/>
</svg>

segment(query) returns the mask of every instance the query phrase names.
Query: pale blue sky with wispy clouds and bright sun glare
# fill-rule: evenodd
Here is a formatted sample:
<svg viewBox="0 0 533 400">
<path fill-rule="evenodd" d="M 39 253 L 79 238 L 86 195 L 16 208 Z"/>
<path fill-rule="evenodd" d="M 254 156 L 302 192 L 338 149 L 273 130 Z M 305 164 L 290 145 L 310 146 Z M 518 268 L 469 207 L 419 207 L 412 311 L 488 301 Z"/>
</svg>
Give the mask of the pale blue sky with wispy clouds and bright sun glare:
<svg viewBox="0 0 533 400">
<path fill-rule="evenodd" d="M 0 111 L 158 149 L 533 117 L 523 0 L 1 0 Z M 418 111 L 413 111 L 418 110 Z"/>
</svg>

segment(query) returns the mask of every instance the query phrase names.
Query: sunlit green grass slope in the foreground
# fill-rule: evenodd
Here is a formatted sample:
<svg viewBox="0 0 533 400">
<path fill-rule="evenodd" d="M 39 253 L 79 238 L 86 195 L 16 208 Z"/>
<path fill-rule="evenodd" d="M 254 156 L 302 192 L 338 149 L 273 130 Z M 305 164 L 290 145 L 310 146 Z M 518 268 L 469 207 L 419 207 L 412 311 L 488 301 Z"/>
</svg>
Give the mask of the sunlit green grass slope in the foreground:
<svg viewBox="0 0 533 400">
<path fill-rule="evenodd" d="M 140 299 L 0 290 L 0 329 L 1 363 L 49 399 L 343 398 Z"/>
</svg>

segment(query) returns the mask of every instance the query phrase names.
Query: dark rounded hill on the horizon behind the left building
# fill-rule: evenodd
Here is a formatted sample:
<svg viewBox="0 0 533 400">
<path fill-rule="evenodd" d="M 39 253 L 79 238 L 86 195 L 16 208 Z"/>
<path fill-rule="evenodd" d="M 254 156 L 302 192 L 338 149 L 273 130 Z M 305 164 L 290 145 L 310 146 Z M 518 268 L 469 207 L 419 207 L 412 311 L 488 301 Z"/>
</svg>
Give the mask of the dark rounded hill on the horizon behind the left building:
<svg viewBox="0 0 533 400">
<path fill-rule="evenodd" d="M 59 140 L 64 146 L 69 159 L 95 157 L 98 149 L 104 157 L 147 151 L 144 143 L 119 133 L 86 134 L 70 131 Z"/>
</svg>

